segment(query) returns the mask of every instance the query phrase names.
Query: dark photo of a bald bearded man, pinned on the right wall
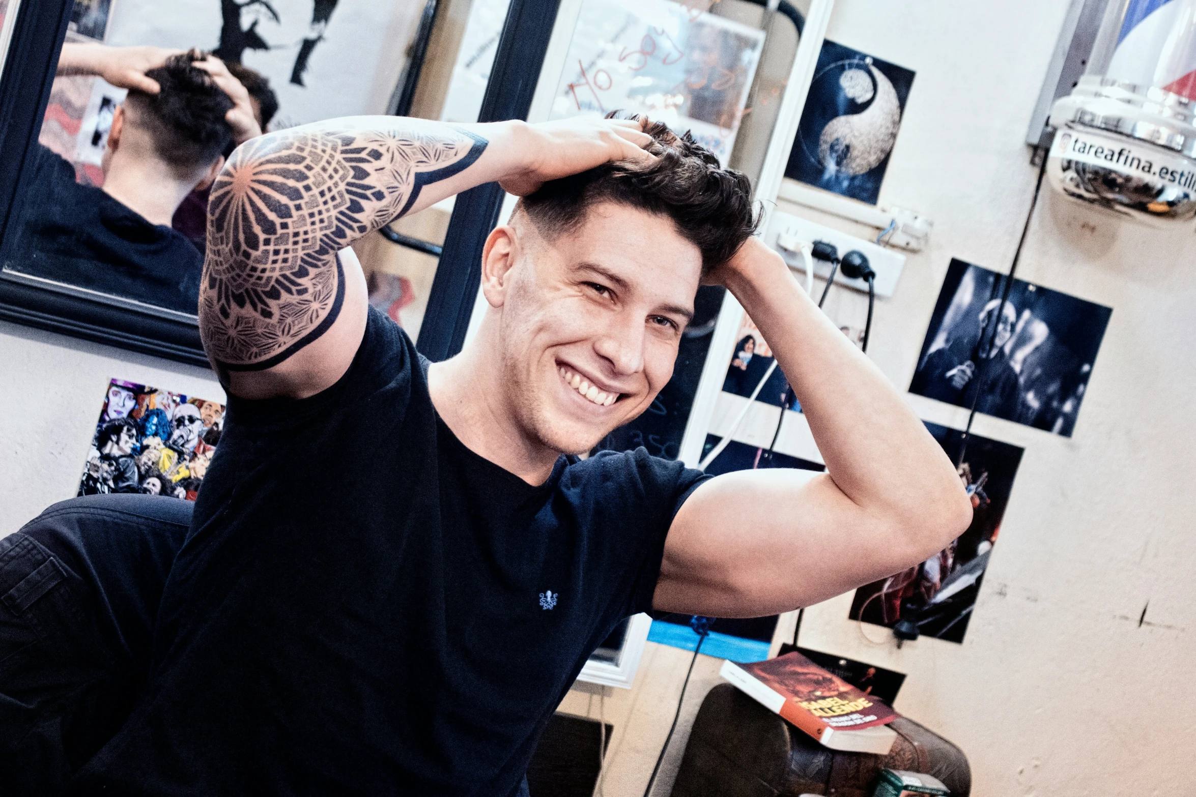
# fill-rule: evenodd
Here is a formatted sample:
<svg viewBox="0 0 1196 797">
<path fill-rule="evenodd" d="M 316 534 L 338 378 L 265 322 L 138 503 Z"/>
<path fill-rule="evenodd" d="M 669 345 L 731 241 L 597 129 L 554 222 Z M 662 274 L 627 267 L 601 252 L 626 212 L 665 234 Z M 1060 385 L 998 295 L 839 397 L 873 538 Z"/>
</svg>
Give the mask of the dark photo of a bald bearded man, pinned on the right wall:
<svg viewBox="0 0 1196 797">
<path fill-rule="evenodd" d="M 1007 282 L 951 260 L 909 390 L 1070 437 L 1112 309 Z"/>
</svg>

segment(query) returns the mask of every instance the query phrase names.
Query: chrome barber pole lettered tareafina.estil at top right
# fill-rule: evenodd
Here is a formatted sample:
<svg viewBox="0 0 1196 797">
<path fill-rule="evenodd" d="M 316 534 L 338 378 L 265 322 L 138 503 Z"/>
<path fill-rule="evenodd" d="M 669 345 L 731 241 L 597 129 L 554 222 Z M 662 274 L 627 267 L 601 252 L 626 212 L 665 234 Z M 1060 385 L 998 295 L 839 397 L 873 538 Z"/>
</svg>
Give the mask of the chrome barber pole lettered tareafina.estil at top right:
<svg viewBox="0 0 1196 797">
<path fill-rule="evenodd" d="M 1196 216 L 1196 0 L 1075 0 L 1073 37 L 1091 30 L 1102 2 L 1091 54 L 1078 60 L 1074 39 L 1069 54 L 1085 73 L 1050 112 L 1050 183 L 1152 226 L 1188 221 Z"/>
</svg>

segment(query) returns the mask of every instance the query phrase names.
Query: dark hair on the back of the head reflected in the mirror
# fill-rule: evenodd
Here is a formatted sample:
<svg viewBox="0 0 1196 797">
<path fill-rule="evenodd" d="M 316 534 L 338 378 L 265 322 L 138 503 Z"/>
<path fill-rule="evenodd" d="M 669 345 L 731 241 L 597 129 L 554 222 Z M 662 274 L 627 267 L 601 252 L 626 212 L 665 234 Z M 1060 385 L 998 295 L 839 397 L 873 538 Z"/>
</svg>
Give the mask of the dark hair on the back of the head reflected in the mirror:
<svg viewBox="0 0 1196 797">
<path fill-rule="evenodd" d="M 158 157 L 185 179 L 212 165 L 232 141 L 225 114 L 232 99 L 212 76 L 191 66 L 206 56 L 199 50 L 172 55 L 164 66 L 146 75 L 161 86 L 157 94 L 130 90 L 126 103 L 134 109 L 135 123 L 153 137 Z"/>
</svg>

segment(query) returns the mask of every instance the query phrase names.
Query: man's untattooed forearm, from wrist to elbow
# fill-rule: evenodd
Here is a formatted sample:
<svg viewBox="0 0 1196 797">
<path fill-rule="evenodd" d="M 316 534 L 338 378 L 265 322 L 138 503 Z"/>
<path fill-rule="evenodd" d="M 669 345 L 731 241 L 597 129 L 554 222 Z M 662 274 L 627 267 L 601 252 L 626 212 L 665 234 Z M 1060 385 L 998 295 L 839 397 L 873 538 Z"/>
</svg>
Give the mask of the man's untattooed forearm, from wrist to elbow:
<svg viewBox="0 0 1196 797">
<path fill-rule="evenodd" d="M 884 374 L 758 241 L 727 287 L 776 355 L 835 485 L 865 513 L 944 544 L 963 531 L 963 488 L 942 448 Z"/>
</svg>

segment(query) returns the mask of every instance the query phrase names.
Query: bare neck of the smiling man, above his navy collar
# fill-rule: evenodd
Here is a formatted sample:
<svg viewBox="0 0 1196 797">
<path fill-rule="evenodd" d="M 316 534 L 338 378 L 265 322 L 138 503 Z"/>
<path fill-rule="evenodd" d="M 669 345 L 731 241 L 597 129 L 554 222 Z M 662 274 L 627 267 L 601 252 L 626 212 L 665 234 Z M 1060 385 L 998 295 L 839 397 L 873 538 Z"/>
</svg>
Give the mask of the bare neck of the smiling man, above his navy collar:
<svg viewBox="0 0 1196 797">
<path fill-rule="evenodd" d="M 465 448 L 529 484 L 543 484 L 561 452 L 530 439 L 520 428 L 504 390 L 501 354 L 484 350 L 483 337 L 478 335 L 452 360 L 432 364 L 432 404 Z"/>
</svg>

